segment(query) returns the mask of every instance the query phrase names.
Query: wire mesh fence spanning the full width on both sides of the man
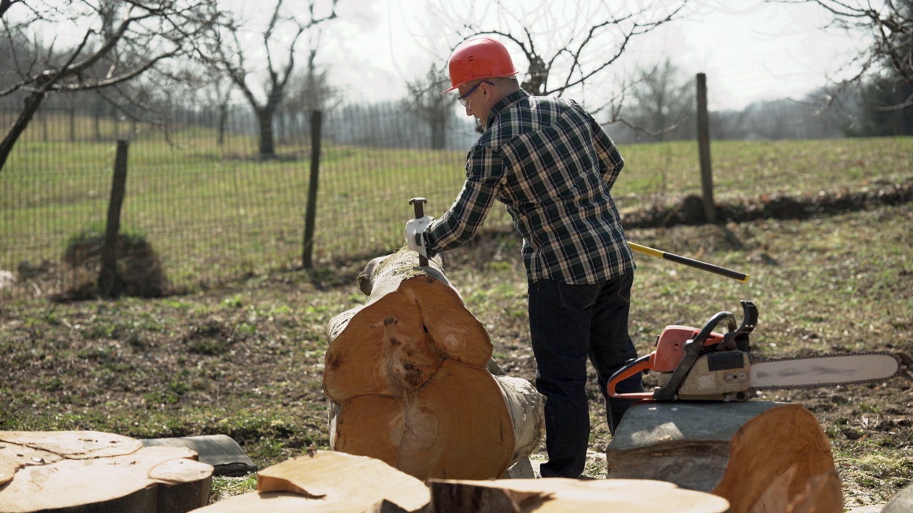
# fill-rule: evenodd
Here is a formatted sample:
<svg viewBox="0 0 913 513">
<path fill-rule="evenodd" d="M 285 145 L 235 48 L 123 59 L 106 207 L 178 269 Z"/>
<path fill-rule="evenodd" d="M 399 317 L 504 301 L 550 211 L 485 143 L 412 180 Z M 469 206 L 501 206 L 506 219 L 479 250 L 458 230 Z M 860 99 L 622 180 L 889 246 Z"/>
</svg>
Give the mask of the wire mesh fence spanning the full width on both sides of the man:
<svg viewBox="0 0 913 513">
<path fill-rule="evenodd" d="M 91 294 L 119 140 L 129 141 L 121 245 L 136 252 L 121 255 L 120 265 L 138 295 L 301 266 L 310 112 L 279 111 L 271 124 L 273 152 L 265 156 L 247 105 L 190 103 L 150 122 L 104 102 L 69 98 L 42 105 L 0 169 L 0 300 Z M 10 126 L 20 109 L 21 103 L 0 103 L 0 121 Z M 316 267 L 402 246 L 412 197 L 428 199 L 428 215 L 446 211 L 478 137 L 462 110 L 455 106 L 451 114 L 445 144 L 433 149 L 440 138 L 403 103 L 351 102 L 323 111 Z M 788 118 L 800 120 L 803 112 Z M 608 131 L 614 136 L 621 127 Z M 714 131 L 711 115 L 716 141 Z M 623 210 L 701 194 L 696 141 L 620 146 L 626 163 L 613 194 Z M 913 168 L 910 147 L 909 138 L 838 146 L 715 142 L 716 197 L 776 194 L 797 183 L 817 191 L 845 181 L 905 179 Z M 502 207 L 486 221 L 488 228 L 509 226 Z"/>
</svg>

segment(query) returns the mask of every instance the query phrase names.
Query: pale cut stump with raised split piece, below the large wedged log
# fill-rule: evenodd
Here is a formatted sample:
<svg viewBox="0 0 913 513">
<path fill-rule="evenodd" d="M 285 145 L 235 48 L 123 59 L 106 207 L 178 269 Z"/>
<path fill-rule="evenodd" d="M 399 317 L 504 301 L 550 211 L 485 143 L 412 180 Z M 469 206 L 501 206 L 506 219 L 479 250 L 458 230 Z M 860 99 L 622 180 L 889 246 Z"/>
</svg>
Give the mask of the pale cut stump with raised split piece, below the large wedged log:
<svg viewBox="0 0 913 513">
<path fill-rule="evenodd" d="M 380 460 L 313 451 L 257 473 L 257 491 L 201 508 L 200 513 L 362 513 L 425 510 L 425 483 Z"/>
</svg>

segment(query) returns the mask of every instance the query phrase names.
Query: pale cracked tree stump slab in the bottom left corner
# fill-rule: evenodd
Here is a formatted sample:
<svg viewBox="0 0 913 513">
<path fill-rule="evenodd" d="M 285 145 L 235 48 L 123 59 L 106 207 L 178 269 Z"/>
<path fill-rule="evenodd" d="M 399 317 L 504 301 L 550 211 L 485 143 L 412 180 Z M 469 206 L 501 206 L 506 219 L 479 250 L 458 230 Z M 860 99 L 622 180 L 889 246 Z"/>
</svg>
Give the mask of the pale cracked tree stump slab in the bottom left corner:
<svg viewBox="0 0 913 513">
<path fill-rule="evenodd" d="M 0 431 L 0 511 L 190 511 L 208 502 L 213 472 L 195 458 L 97 431 Z"/>
</svg>

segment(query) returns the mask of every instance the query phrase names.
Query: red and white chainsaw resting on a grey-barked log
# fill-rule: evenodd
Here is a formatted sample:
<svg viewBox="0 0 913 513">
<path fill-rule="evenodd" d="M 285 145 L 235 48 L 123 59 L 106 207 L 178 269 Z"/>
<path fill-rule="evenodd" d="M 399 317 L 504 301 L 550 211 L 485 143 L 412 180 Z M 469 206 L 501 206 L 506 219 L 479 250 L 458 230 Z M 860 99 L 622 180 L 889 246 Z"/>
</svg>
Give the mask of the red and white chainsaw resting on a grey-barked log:
<svg viewBox="0 0 913 513">
<path fill-rule="evenodd" d="M 759 390 L 877 382 L 897 373 L 897 357 L 887 352 L 758 358 L 749 353 L 749 335 L 758 324 L 758 309 L 750 301 L 740 303 L 743 313 L 738 327 L 729 311 L 714 315 L 700 330 L 666 326 L 656 339 L 656 351 L 628 361 L 612 375 L 606 384 L 609 396 L 653 401 L 745 401 Z M 725 333 L 714 331 L 724 323 Z M 615 392 L 619 382 L 637 372 L 656 372 L 658 386 L 653 392 Z"/>
</svg>

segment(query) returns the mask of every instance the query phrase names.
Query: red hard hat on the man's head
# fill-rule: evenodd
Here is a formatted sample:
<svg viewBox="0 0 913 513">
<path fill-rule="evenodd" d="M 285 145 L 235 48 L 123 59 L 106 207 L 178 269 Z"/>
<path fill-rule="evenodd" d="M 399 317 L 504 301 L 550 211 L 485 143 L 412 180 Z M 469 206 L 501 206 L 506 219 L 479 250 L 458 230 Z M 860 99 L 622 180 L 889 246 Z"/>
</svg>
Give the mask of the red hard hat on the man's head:
<svg viewBox="0 0 913 513">
<path fill-rule="evenodd" d="M 513 77 L 519 73 L 510 60 L 508 49 L 490 37 L 469 39 L 456 47 L 450 57 L 450 89 L 452 91 L 475 79 Z"/>
</svg>

